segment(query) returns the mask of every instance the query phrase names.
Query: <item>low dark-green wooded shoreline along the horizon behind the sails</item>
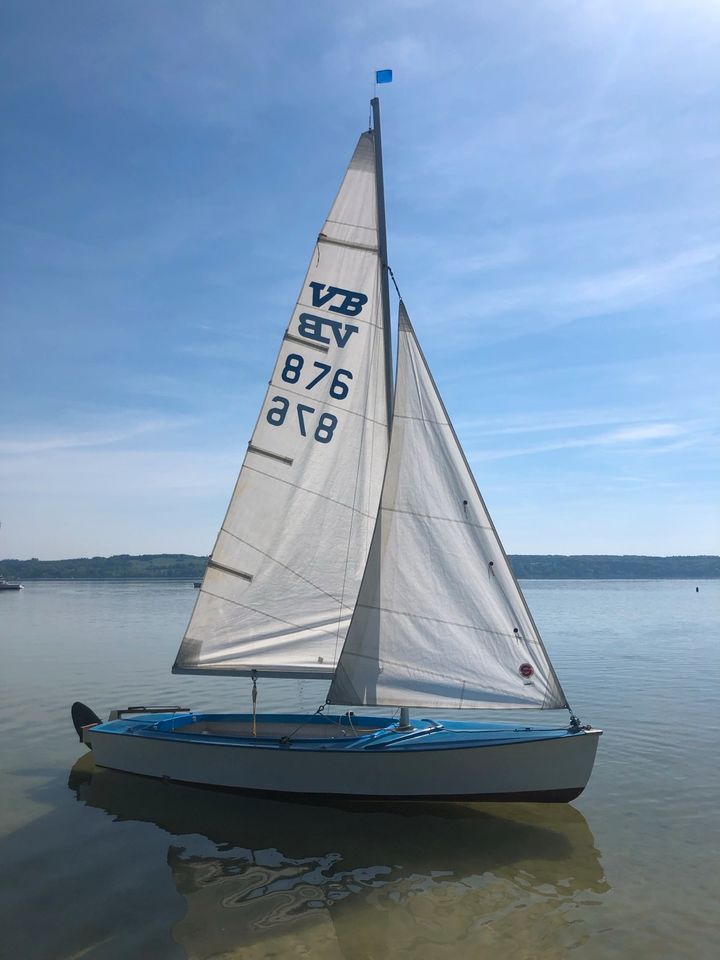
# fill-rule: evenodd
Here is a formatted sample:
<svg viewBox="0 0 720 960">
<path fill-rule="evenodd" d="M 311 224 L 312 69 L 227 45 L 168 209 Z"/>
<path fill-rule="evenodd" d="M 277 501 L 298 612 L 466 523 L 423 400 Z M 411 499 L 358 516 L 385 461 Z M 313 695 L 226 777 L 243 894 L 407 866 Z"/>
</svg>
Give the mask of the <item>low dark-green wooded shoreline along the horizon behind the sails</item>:
<svg viewBox="0 0 720 960">
<path fill-rule="evenodd" d="M 146 553 L 75 560 L 0 560 L 8 580 L 200 580 L 207 557 Z M 562 556 L 510 557 L 521 580 L 712 580 L 720 579 L 720 557 Z"/>
</svg>

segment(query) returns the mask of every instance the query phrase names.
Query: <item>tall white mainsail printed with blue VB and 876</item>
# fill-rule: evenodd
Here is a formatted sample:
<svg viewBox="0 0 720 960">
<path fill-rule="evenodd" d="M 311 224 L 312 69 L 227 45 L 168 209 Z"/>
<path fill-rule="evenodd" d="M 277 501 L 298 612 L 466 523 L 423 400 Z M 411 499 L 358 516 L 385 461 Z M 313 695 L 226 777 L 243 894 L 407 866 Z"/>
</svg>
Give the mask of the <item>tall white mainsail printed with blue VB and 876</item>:
<svg viewBox="0 0 720 960">
<path fill-rule="evenodd" d="M 313 251 L 176 673 L 329 677 L 387 458 L 373 134 Z"/>
</svg>

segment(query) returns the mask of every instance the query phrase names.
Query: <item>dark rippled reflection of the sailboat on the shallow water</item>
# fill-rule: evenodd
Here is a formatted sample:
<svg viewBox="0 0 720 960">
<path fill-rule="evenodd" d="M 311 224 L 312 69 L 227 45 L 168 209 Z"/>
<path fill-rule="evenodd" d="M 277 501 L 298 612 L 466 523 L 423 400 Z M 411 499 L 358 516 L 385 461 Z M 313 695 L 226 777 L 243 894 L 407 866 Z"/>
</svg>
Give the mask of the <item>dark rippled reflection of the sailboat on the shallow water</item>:
<svg viewBox="0 0 720 960">
<path fill-rule="evenodd" d="M 116 820 L 182 838 L 167 862 L 187 904 L 173 936 L 190 957 L 284 955 L 299 929 L 318 957 L 426 954 L 433 943 L 469 957 L 490 929 L 507 955 L 530 957 L 523 950 L 538 936 L 579 942 L 573 907 L 609 889 L 585 818 L 564 804 L 328 807 L 179 784 L 158 790 L 151 779 L 96 768 L 90 754 L 69 786 Z"/>
</svg>

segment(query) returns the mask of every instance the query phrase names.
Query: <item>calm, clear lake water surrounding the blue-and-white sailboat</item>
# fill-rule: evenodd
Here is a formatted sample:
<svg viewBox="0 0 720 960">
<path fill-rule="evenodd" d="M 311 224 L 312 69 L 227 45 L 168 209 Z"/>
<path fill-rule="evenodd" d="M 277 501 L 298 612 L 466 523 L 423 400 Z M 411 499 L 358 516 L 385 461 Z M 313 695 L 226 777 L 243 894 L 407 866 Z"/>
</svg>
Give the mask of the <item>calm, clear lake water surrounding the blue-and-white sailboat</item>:
<svg viewBox="0 0 720 960">
<path fill-rule="evenodd" d="M 0 593 L 0 956 L 714 958 L 720 581 L 695 586 L 524 584 L 605 731 L 574 804 L 356 809 L 94 769 L 75 699 L 249 709 L 245 680 L 170 674 L 191 583 Z M 261 682 L 260 706 L 310 712 L 324 690 Z"/>
</svg>

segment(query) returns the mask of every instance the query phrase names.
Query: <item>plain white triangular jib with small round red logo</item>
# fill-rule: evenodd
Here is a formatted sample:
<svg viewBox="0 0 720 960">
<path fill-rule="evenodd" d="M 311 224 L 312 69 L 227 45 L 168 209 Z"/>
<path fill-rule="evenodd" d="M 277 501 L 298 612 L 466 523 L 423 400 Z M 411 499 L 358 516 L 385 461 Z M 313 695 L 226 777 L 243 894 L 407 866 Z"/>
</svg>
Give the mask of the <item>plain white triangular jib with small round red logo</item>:
<svg viewBox="0 0 720 960">
<path fill-rule="evenodd" d="M 395 391 L 379 521 L 328 702 L 566 706 L 402 303 Z"/>
</svg>

